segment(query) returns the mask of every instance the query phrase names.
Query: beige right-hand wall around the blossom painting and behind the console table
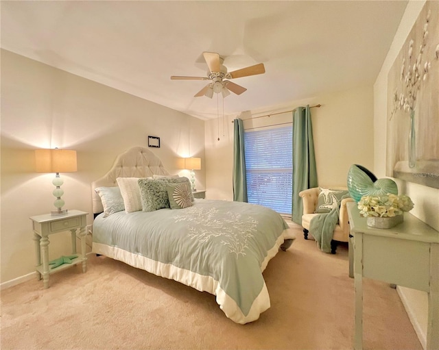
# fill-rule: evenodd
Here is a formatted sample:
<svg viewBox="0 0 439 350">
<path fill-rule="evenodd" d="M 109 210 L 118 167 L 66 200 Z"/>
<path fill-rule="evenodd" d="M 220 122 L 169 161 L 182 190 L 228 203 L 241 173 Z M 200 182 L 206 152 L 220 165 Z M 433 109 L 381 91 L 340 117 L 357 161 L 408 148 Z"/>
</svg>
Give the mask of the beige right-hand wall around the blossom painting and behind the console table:
<svg viewBox="0 0 439 350">
<path fill-rule="evenodd" d="M 407 4 L 399 29 L 396 32 L 392 45 L 388 51 L 388 55 L 381 67 L 381 72 L 375 82 L 374 171 L 377 177 L 385 176 L 388 73 L 424 4 L 425 1 L 410 1 Z M 399 191 L 409 195 L 415 203 L 414 209 L 411 210 L 410 213 L 439 231 L 439 190 L 411 182 L 401 181 L 399 179 L 395 179 L 395 181 L 398 184 Z M 398 291 L 403 303 L 405 304 L 407 313 L 412 320 L 416 333 L 425 347 L 425 334 L 427 329 L 427 293 L 403 287 L 398 287 Z"/>
</svg>

